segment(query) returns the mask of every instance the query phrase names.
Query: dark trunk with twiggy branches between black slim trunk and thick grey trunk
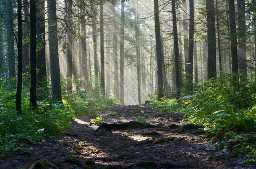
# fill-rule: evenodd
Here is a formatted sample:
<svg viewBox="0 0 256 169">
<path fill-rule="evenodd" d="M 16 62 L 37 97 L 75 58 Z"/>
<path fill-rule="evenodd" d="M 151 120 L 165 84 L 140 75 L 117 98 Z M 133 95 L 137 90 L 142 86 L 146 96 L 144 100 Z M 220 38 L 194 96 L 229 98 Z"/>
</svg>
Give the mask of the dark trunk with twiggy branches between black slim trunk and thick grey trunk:
<svg viewBox="0 0 256 169">
<path fill-rule="evenodd" d="M 44 0 L 37 0 L 37 44 L 40 50 L 37 52 L 38 86 L 47 90 L 46 61 L 45 61 L 45 17 Z M 42 93 L 41 91 L 39 93 Z"/>
</svg>

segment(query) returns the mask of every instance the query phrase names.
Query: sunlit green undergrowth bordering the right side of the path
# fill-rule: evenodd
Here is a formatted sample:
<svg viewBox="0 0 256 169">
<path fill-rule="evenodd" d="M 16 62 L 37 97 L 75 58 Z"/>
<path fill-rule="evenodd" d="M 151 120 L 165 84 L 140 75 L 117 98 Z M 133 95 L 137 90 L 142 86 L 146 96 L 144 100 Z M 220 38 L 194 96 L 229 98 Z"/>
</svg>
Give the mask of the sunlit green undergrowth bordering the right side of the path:
<svg viewBox="0 0 256 169">
<path fill-rule="evenodd" d="M 245 154 L 247 163 L 256 162 L 256 84 L 233 81 L 225 76 L 207 81 L 193 93 L 176 99 L 154 101 L 152 105 L 169 113 L 183 113 L 190 123 L 205 126 L 208 139 L 218 148 Z"/>
</svg>

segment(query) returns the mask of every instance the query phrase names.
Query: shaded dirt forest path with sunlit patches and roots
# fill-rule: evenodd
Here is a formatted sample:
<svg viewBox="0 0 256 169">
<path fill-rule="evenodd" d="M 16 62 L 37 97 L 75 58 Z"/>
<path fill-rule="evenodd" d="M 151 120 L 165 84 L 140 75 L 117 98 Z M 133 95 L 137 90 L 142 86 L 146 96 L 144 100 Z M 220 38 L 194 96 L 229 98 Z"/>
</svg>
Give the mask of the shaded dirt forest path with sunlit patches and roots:
<svg viewBox="0 0 256 169">
<path fill-rule="evenodd" d="M 99 126 L 91 124 L 91 120 L 96 119 L 97 116 L 104 118 L 107 123 L 147 121 L 158 127 L 97 131 Z M 112 110 L 76 119 L 73 122 L 73 129 L 68 133 L 60 134 L 60 139 L 48 138 L 44 142 L 26 142 L 27 148 L 31 148 L 31 151 L 12 153 L 5 161 L 0 160 L 0 168 L 246 169 L 252 167 L 244 164 L 242 159 L 226 155 L 222 151 L 215 152 L 214 145 L 202 139 L 200 129 L 178 132 L 175 124 L 181 124 L 182 118 L 182 114 L 162 112 L 150 105 L 117 105 Z"/>
</svg>

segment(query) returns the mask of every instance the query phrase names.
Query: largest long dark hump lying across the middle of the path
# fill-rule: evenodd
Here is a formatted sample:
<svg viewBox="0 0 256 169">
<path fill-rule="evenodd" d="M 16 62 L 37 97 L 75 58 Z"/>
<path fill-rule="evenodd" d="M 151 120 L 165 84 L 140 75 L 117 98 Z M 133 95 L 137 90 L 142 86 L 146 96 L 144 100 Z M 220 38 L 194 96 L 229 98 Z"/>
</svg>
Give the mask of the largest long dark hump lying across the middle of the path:
<svg viewBox="0 0 256 169">
<path fill-rule="evenodd" d="M 130 121 L 128 123 L 120 123 L 120 124 L 107 124 L 103 123 L 97 129 L 97 131 L 110 131 L 110 130 L 132 130 L 132 129 L 149 129 L 149 128 L 157 128 L 158 126 L 153 124 L 143 124 L 138 121 Z"/>
</svg>

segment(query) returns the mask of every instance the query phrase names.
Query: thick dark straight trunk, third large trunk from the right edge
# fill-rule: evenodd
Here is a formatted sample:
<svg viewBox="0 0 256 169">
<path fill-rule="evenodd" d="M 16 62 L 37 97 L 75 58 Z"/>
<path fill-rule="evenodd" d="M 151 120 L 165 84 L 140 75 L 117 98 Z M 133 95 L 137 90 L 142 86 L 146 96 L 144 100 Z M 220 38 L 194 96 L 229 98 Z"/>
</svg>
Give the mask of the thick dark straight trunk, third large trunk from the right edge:
<svg viewBox="0 0 256 169">
<path fill-rule="evenodd" d="M 216 33 L 214 0 L 206 0 L 207 15 L 207 77 L 216 78 Z"/>
</svg>

